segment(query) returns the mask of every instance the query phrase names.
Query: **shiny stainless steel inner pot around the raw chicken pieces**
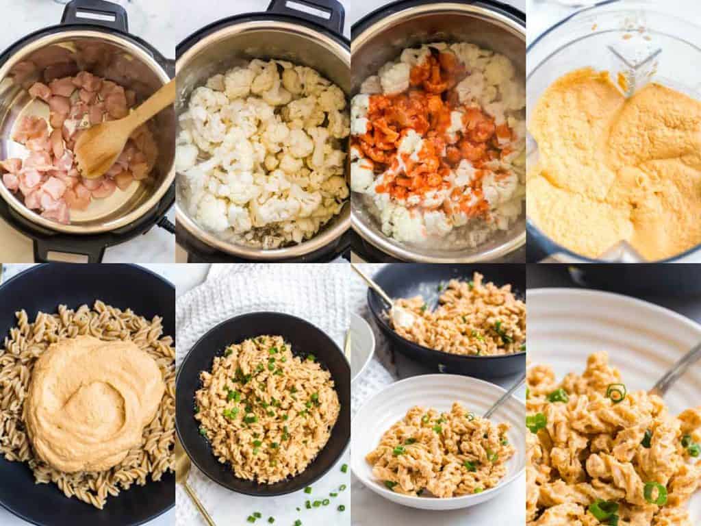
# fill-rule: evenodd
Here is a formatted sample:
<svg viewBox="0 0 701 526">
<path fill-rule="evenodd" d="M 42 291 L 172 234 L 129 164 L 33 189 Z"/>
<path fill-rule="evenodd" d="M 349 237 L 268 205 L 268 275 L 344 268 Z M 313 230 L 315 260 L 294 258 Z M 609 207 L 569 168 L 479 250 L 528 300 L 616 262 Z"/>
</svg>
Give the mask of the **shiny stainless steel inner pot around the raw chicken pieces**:
<svg viewBox="0 0 701 526">
<path fill-rule="evenodd" d="M 23 116 L 48 119 L 48 105 L 29 96 L 27 90 L 32 84 L 37 81 L 48 83 L 80 71 L 88 71 L 134 90 L 137 104 L 163 86 L 165 75 L 146 51 L 121 37 L 97 32 L 61 32 L 30 41 L 0 66 L 1 159 L 27 156 L 27 149 L 12 140 L 13 128 Z M 175 157 L 175 112 L 170 108 L 163 110 L 149 121 L 148 126 L 158 143 L 158 160 L 151 177 L 141 184 L 132 183 L 126 191 L 116 191 L 109 198 L 93 200 L 87 210 L 72 211 L 71 225 L 67 225 L 67 229 L 88 231 L 106 229 L 110 225 L 118 227 L 125 215 L 154 197 L 157 201 L 158 196 L 154 193 L 156 189 L 163 190 Z M 22 207 L 25 215 L 30 214 L 37 222 L 46 222 L 24 208 L 15 196 L 9 198 L 15 201 L 15 207 Z M 151 203 L 144 208 L 150 206 Z M 58 224 L 53 226 L 62 229 Z"/>
</svg>

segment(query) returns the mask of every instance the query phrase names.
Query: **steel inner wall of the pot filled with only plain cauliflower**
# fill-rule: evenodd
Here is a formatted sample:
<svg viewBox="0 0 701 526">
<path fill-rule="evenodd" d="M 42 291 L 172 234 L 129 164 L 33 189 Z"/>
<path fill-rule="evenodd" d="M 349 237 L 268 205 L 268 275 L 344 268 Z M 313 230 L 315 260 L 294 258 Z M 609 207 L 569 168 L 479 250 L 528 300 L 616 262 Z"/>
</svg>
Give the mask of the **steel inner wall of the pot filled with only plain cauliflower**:
<svg viewBox="0 0 701 526">
<path fill-rule="evenodd" d="M 242 23 L 204 36 L 178 58 L 178 95 L 175 101 L 177 115 L 186 111 L 192 90 L 204 86 L 210 76 L 224 73 L 231 67 L 244 65 L 255 58 L 288 60 L 294 65 L 312 67 L 348 95 L 351 91 L 351 72 L 347 57 L 344 58 L 343 54 L 339 53 L 341 45 L 326 35 L 318 34 L 315 37 L 313 34 L 306 34 L 302 32 L 304 29 L 306 28 L 285 23 L 280 23 L 279 27 L 274 28 L 260 27 L 257 23 Z M 184 63 L 181 63 L 183 58 Z M 348 164 L 346 164 L 346 180 L 350 183 Z M 177 191 L 179 208 L 189 217 L 187 199 L 186 189 L 179 186 Z M 348 220 L 350 214 L 350 206 L 345 205 L 341 213 L 325 224 L 311 240 L 296 246 L 301 247 L 319 238 L 325 231 Z M 190 220 L 192 220 L 191 217 Z M 219 241 L 217 245 L 226 250 L 229 243 Z"/>
</svg>

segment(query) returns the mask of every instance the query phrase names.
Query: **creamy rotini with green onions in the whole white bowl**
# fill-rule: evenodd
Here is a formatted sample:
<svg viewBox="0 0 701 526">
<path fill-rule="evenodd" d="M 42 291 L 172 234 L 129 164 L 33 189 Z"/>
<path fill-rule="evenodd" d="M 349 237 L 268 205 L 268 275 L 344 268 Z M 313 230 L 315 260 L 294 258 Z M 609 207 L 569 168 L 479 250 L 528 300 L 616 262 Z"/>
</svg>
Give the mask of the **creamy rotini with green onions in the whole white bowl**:
<svg viewBox="0 0 701 526">
<path fill-rule="evenodd" d="M 492 424 L 454 403 L 450 412 L 411 407 L 365 459 L 390 490 L 447 498 L 498 485 L 515 450 L 509 424 Z"/>
</svg>

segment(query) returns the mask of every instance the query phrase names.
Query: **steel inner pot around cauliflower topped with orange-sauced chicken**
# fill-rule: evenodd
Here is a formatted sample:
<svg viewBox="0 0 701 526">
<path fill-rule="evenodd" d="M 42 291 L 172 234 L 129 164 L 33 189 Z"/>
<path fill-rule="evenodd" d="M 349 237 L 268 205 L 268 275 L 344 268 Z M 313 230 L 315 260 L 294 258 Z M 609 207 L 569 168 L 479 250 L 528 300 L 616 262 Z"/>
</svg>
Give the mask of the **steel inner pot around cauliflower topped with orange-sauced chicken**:
<svg viewBox="0 0 701 526">
<path fill-rule="evenodd" d="M 391 17 L 390 17 L 391 18 Z M 362 39 L 356 45 L 353 43 L 353 90 L 358 93 L 360 84 L 388 61 L 397 60 L 402 50 L 414 48 L 432 42 L 468 42 L 480 48 L 493 50 L 509 58 L 516 69 L 516 76 L 526 79 L 526 36 L 525 29 L 516 29 L 506 22 L 495 20 L 481 13 L 465 13 L 464 11 L 435 11 L 432 13 L 417 13 L 406 15 L 401 20 L 390 18 L 376 22 L 380 29 L 369 29 L 374 32 L 367 39 Z M 459 255 L 470 257 L 485 252 L 499 250 L 505 243 L 517 238 L 526 229 L 525 210 L 522 217 L 512 224 L 508 231 L 496 231 L 486 243 L 475 248 L 460 248 L 458 250 L 438 250 L 435 248 L 418 248 L 414 245 L 404 245 L 393 238 L 385 236 L 375 217 L 367 210 L 362 197 L 353 193 L 353 214 L 355 219 L 362 222 L 365 228 L 375 234 L 384 243 L 393 245 L 399 251 L 410 250 L 416 255 L 427 257 L 442 257 L 451 259 Z M 525 208 L 525 207 L 524 207 Z"/>
</svg>

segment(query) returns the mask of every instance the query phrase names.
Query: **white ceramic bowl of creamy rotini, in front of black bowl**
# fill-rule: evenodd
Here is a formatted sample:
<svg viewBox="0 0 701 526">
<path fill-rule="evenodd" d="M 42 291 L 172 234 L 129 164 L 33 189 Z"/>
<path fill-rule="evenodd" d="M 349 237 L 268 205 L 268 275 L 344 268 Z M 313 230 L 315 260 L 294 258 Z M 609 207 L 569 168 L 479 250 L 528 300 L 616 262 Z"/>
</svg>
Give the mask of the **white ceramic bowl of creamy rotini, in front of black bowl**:
<svg viewBox="0 0 701 526">
<path fill-rule="evenodd" d="M 414 497 L 395 493 L 372 476 L 372 467 L 365 455 L 374 450 L 382 434 L 407 411 L 420 405 L 439 411 L 449 411 L 454 402 L 460 402 L 475 414 L 484 414 L 504 393 L 504 389 L 475 378 L 458 375 L 423 375 L 407 378 L 383 389 L 363 405 L 353 418 L 351 430 L 351 469 L 370 490 L 390 501 L 411 508 L 425 510 L 454 510 L 468 508 L 494 497 L 519 478 L 526 466 L 526 407 L 521 400 L 512 397 L 491 417 L 493 422 L 508 422 L 511 429 L 507 436 L 516 446 L 516 452 L 508 461 L 508 471 L 497 487 L 476 495 L 464 495 L 449 499 Z"/>
</svg>

